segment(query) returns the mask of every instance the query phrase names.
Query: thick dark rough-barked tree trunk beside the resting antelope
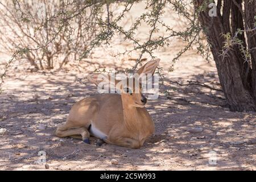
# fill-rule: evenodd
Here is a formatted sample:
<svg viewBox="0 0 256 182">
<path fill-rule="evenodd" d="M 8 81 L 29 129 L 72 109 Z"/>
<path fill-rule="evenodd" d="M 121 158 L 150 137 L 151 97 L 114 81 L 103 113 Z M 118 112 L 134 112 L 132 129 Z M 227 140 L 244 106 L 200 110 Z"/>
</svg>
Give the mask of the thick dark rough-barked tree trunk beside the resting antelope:
<svg viewBox="0 0 256 182">
<path fill-rule="evenodd" d="M 202 3 L 209 2 L 207 0 L 194 0 L 195 8 L 202 5 Z M 217 16 L 210 17 L 208 11 L 200 11 L 199 21 L 201 26 L 205 28 L 205 34 L 207 35 L 208 43 L 210 44 L 210 49 L 213 55 L 213 59 L 216 63 L 218 77 L 220 79 L 220 84 L 224 90 L 226 100 L 228 101 L 231 111 L 255 111 L 256 110 L 256 97 L 255 97 L 255 58 L 251 55 L 250 64 L 245 62 L 240 52 L 238 46 L 229 49 L 228 55 L 226 57 L 220 56 L 222 53 L 222 48 L 224 46 L 225 38 L 223 34 L 234 34 L 237 28 L 243 28 L 243 16 L 238 9 L 237 5 L 234 5 L 232 0 L 225 0 L 221 11 L 221 0 L 218 0 L 217 5 Z M 242 1 L 237 0 L 238 5 L 241 7 Z M 249 3 L 249 2 L 247 2 Z M 251 3 L 251 2 L 250 2 Z M 255 5 L 255 1 L 253 1 Z M 246 6 L 246 3 L 245 3 Z M 246 16 L 253 16 L 255 14 L 255 6 L 250 8 L 246 13 Z M 230 19 L 231 13 L 231 19 Z M 247 15 L 248 14 L 248 15 Z M 253 16 L 254 17 L 254 16 Z M 230 21 L 231 20 L 231 21 Z M 231 24 L 231 27 L 230 27 Z M 253 35 L 254 33 L 254 35 Z M 255 32 L 250 36 L 249 42 L 255 41 Z M 247 35 L 248 36 L 248 35 Z M 241 40 L 245 42 L 244 35 L 240 35 Z M 248 45 L 249 45 L 248 42 Z M 255 47 L 255 42 L 250 44 L 249 47 Z M 244 44 L 246 46 L 246 44 Z M 255 54 L 254 51 L 251 53 Z"/>
</svg>

